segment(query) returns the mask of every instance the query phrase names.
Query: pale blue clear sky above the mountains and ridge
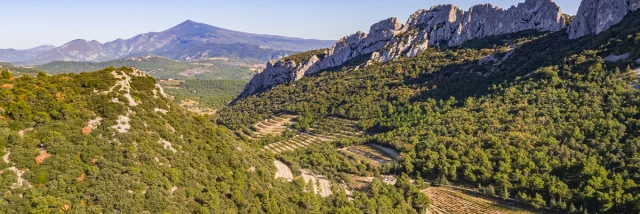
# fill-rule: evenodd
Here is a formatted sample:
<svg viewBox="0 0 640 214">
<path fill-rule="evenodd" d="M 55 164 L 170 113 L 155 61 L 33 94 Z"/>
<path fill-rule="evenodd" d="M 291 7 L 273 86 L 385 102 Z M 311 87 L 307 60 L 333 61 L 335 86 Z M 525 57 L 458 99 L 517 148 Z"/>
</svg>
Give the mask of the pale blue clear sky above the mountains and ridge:
<svg viewBox="0 0 640 214">
<path fill-rule="evenodd" d="M 524 1 L 524 0 L 521 0 Z M 510 7 L 507 0 L 0 0 L 0 48 L 107 42 L 157 32 L 191 19 L 243 32 L 336 40 L 388 17 L 406 20 L 422 8 L 455 4 Z M 575 14 L 580 0 L 556 0 Z"/>
</svg>

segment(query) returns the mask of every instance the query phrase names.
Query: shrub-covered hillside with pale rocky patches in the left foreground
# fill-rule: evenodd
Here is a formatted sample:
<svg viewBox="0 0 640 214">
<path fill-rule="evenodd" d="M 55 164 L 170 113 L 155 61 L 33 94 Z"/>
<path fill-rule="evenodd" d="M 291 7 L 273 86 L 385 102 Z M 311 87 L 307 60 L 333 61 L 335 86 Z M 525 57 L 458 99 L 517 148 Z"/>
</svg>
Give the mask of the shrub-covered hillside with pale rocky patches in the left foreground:
<svg viewBox="0 0 640 214">
<path fill-rule="evenodd" d="M 417 213 L 428 203 L 408 181 L 376 180 L 350 203 L 338 188 L 323 198 L 301 178 L 276 179 L 270 152 L 133 68 L 4 70 L 0 85 L 1 213 Z"/>
</svg>

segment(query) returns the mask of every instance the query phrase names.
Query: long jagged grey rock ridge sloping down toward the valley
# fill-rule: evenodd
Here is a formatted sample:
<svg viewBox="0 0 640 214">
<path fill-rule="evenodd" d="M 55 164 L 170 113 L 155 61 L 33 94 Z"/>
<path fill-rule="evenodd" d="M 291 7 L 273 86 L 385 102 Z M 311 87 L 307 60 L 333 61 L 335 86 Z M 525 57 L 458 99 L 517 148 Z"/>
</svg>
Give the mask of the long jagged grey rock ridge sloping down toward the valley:
<svg viewBox="0 0 640 214">
<path fill-rule="evenodd" d="M 238 98 L 361 57 L 386 62 L 397 57 L 414 57 L 430 45 L 456 46 L 487 36 L 563 28 L 565 16 L 553 0 L 527 0 L 506 10 L 490 4 L 476 5 L 468 11 L 453 5 L 434 6 L 417 11 L 404 25 L 397 18 L 380 21 L 371 26 L 369 34 L 357 32 L 344 37 L 330 49 L 303 60 L 291 57 L 270 61 Z"/>
</svg>

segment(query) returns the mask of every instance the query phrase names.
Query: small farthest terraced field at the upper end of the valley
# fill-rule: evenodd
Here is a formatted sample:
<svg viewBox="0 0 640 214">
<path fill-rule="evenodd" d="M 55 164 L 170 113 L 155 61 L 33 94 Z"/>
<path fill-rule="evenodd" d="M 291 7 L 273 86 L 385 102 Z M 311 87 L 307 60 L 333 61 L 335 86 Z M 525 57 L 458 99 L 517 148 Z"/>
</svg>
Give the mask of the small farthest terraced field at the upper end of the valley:
<svg viewBox="0 0 640 214">
<path fill-rule="evenodd" d="M 282 132 L 286 131 L 287 126 L 293 124 L 293 120 L 297 118 L 297 115 L 291 114 L 281 114 L 274 115 L 269 119 L 260 121 L 250 129 L 243 129 L 238 133 L 238 135 L 244 136 L 248 139 L 254 140 L 258 138 L 262 138 L 268 135 L 280 135 Z"/>
</svg>

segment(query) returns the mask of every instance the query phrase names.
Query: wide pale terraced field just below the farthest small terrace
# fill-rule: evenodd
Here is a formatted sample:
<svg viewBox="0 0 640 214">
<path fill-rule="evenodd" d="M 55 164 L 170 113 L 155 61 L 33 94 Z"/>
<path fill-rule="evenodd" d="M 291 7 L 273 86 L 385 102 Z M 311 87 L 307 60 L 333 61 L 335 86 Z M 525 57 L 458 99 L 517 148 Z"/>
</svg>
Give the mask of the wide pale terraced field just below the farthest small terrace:
<svg viewBox="0 0 640 214">
<path fill-rule="evenodd" d="M 336 123 L 339 121 L 339 123 Z M 339 125 L 339 128 L 328 129 L 323 124 Z M 319 125 L 318 125 L 319 124 Z M 339 141 L 346 138 L 358 138 L 364 135 L 359 131 L 353 121 L 344 119 L 329 118 L 323 120 L 321 123 L 311 126 L 309 132 L 300 133 L 293 138 L 287 139 L 282 142 L 272 143 L 266 145 L 263 149 L 271 151 L 274 154 L 295 151 L 298 149 L 306 148 L 312 145 L 320 145 L 327 142 Z"/>
</svg>

